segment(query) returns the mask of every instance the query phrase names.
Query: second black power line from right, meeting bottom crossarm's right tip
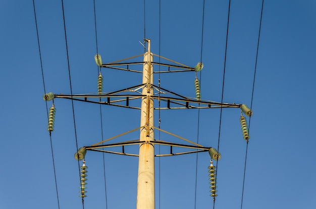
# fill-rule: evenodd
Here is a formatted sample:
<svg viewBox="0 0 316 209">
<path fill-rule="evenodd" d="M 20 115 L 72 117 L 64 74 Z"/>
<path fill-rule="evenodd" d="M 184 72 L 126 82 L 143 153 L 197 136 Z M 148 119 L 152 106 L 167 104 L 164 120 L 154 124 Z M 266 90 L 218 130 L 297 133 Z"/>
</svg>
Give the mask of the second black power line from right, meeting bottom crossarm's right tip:
<svg viewBox="0 0 316 209">
<path fill-rule="evenodd" d="M 230 0 L 229 0 L 229 4 L 228 4 L 228 17 L 227 17 L 227 31 L 226 31 L 226 46 L 225 46 L 225 58 L 224 58 L 224 73 L 223 73 L 223 87 L 222 87 L 222 100 L 221 103 L 223 103 L 223 98 L 224 98 L 224 85 L 225 85 L 225 71 L 226 71 L 226 57 L 227 57 L 227 43 L 228 43 L 228 29 L 229 29 L 229 15 L 230 15 Z M 223 108 L 221 106 L 221 113 L 220 113 L 220 127 L 219 127 L 219 139 L 218 139 L 218 147 L 217 147 L 217 152 L 220 152 L 220 138 L 221 138 L 221 124 L 222 124 L 222 111 Z M 216 175 L 218 176 L 218 161 L 216 161 Z M 217 184 L 217 178 L 215 179 L 215 186 Z M 215 197 L 213 199 L 214 203 L 213 203 L 213 208 L 215 208 Z"/>
</svg>

